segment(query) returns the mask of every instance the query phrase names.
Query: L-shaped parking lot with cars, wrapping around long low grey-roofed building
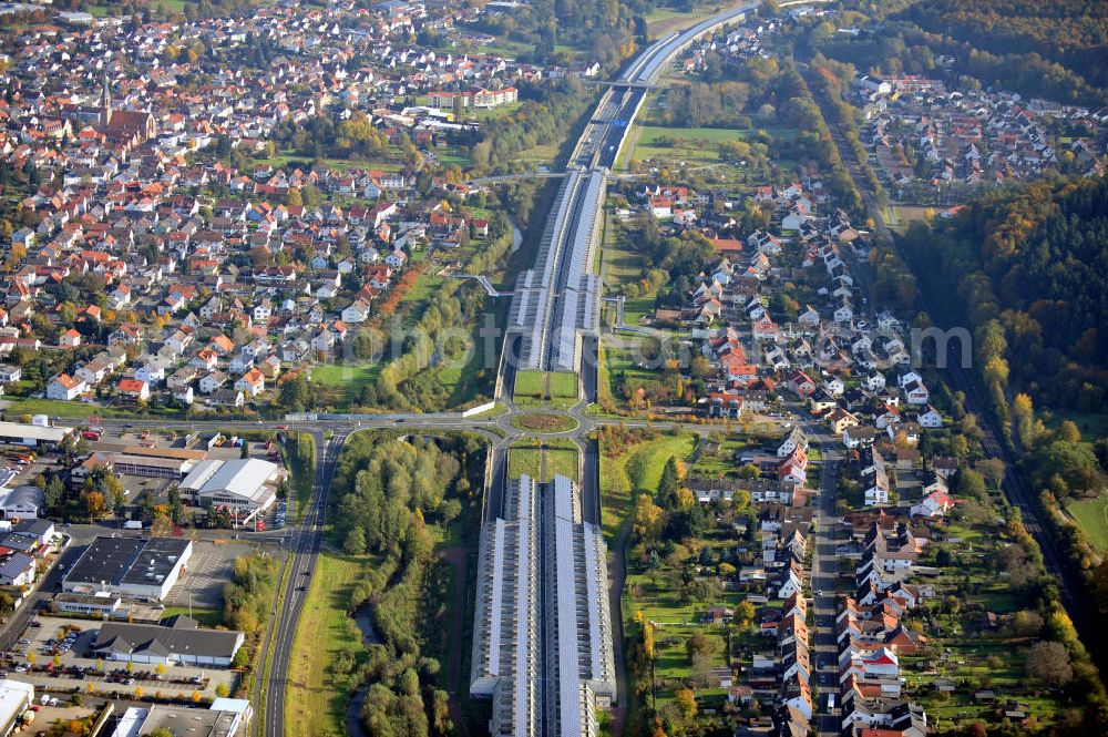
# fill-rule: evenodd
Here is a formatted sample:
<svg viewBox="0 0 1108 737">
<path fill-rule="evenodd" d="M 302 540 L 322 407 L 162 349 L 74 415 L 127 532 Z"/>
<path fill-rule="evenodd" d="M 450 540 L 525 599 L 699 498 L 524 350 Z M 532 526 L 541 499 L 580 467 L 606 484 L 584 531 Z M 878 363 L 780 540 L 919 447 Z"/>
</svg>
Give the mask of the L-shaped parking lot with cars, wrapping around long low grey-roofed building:
<svg viewBox="0 0 1108 737">
<path fill-rule="evenodd" d="M 189 697 L 197 692 L 214 697 L 220 683 L 234 690 L 237 674 L 224 668 L 146 664 L 129 668 L 126 663 L 95 657 L 90 653 L 99 631 L 95 621 L 38 616 L 34 622 L 39 626 L 27 629 L 7 666 L 20 680 L 34 684 L 37 692 L 62 698 L 74 690 L 136 698 L 138 689 L 148 695 Z"/>
</svg>

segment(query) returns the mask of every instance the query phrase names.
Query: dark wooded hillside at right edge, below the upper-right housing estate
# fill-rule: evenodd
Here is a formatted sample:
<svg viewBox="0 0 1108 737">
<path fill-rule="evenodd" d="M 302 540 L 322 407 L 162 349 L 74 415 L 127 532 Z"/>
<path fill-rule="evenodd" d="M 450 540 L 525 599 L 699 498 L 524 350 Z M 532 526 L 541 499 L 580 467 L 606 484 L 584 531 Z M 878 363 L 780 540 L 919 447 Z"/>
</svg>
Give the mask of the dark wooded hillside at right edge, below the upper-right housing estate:
<svg viewBox="0 0 1108 737">
<path fill-rule="evenodd" d="M 986 383 L 1056 408 L 1108 398 L 1108 180 L 1051 178 L 986 194 L 902 238 L 916 274 L 974 330 Z M 964 321 L 963 321 L 964 320 Z M 1001 381 L 1003 379 L 1003 381 Z"/>
</svg>

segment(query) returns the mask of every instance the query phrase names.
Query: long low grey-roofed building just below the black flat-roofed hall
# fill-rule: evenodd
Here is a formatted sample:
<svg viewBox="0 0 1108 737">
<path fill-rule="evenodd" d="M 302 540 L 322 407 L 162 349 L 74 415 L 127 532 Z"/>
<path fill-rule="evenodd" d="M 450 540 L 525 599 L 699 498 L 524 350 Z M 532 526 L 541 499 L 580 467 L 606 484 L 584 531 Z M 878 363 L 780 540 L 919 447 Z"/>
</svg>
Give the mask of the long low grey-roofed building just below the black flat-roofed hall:
<svg viewBox="0 0 1108 737">
<path fill-rule="evenodd" d="M 196 620 L 177 614 L 158 624 L 105 622 L 92 653 L 112 661 L 156 665 L 229 666 L 246 635 L 232 629 L 201 629 Z"/>
</svg>

